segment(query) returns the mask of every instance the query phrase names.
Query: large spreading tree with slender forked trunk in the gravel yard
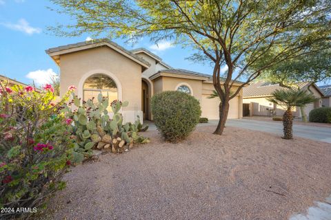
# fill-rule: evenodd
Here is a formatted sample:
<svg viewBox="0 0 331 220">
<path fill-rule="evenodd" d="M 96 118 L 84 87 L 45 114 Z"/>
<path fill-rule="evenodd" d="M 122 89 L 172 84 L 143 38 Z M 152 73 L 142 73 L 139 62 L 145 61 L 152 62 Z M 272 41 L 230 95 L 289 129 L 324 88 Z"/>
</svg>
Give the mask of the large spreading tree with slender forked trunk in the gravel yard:
<svg viewBox="0 0 331 220">
<path fill-rule="evenodd" d="M 316 50 L 330 47 L 331 2 L 327 0 L 51 1 L 61 6 L 59 13 L 75 21 L 50 28 L 61 36 L 106 32 L 110 38 L 130 41 L 148 37 L 158 43 L 168 39 L 197 50 L 191 58 L 212 63 L 214 89 L 223 103 L 214 131 L 219 135 L 228 117 L 229 101 L 263 69 L 306 54 L 306 48 L 315 43 L 321 45 Z M 285 46 L 280 49 L 278 45 Z M 276 53 L 265 59 L 272 50 Z M 249 71 L 256 62 L 259 68 Z M 222 65 L 227 65 L 228 71 L 221 83 Z M 234 87 L 240 78 L 245 78 L 244 83 Z M 234 91 L 232 95 L 230 91 Z"/>
</svg>

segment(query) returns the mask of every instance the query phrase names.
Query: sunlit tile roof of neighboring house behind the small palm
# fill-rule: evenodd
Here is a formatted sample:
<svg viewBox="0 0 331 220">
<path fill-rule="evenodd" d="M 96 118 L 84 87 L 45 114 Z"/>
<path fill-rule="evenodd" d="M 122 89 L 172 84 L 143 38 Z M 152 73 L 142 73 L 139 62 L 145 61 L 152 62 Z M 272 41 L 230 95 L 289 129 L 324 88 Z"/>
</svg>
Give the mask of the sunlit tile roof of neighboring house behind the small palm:
<svg viewBox="0 0 331 220">
<path fill-rule="evenodd" d="M 310 83 L 298 83 L 300 89 L 308 87 Z M 243 97 L 263 97 L 271 96 L 272 92 L 277 89 L 286 89 L 281 87 L 279 84 L 272 84 L 268 82 L 256 82 L 250 83 L 248 87 L 243 88 Z"/>
</svg>

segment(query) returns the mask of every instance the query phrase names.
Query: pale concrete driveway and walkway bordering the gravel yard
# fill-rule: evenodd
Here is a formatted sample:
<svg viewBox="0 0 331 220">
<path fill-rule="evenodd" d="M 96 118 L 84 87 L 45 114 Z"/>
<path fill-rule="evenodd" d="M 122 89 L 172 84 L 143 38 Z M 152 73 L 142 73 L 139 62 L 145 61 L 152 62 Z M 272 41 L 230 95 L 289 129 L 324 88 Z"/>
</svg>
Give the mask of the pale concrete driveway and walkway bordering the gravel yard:
<svg viewBox="0 0 331 220">
<path fill-rule="evenodd" d="M 198 126 L 216 126 L 217 120 L 210 120 L 205 124 L 198 124 Z M 155 131 L 157 128 L 154 123 L 146 122 L 151 131 Z M 254 131 L 263 131 L 268 133 L 274 133 L 277 135 L 283 135 L 283 123 L 274 121 L 252 120 L 252 119 L 228 119 L 226 126 L 234 126 L 242 129 L 250 129 Z M 331 143 L 331 126 L 312 126 L 303 124 L 293 125 L 293 135 L 295 137 L 304 137 L 310 140 L 318 140 L 321 142 Z"/>
</svg>

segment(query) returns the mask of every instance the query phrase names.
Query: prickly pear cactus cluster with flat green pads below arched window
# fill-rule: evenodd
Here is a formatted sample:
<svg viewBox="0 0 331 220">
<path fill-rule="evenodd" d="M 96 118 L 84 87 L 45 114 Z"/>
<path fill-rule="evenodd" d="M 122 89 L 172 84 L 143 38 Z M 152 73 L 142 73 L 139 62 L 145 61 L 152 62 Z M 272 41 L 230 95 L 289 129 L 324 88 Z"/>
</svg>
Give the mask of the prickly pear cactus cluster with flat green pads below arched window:
<svg viewBox="0 0 331 220">
<path fill-rule="evenodd" d="M 72 105 L 74 106 L 72 107 Z M 68 118 L 68 125 L 70 125 L 75 142 L 74 163 L 80 163 L 83 159 L 92 157 L 94 148 L 102 149 L 104 146 L 109 146 L 107 144 L 114 146 L 115 149 L 109 147 L 114 153 L 123 152 L 123 146 L 117 148 L 119 143 L 113 143 L 112 140 L 118 140 L 117 142 L 124 140 L 127 146 L 131 143 L 149 142 L 148 138 L 137 134 L 141 130 L 148 129 L 148 127 L 143 129 L 139 118 L 134 124 L 130 122 L 123 124 L 120 110 L 121 107 L 127 107 L 128 102 L 115 100 L 110 103 L 112 118 L 108 115 L 108 105 L 108 98 L 103 97 L 102 94 L 99 94 L 94 102 L 92 99 L 81 102 L 72 93 L 69 106 L 64 106 L 62 111 Z"/>
</svg>

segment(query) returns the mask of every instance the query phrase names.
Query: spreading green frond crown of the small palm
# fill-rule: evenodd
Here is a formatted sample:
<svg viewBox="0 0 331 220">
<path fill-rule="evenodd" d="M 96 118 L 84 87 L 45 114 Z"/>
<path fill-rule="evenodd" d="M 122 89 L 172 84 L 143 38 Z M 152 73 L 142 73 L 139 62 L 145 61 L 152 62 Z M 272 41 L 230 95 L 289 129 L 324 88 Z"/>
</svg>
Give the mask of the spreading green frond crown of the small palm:
<svg viewBox="0 0 331 220">
<path fill-rule="evenodd" d="M 302 89 L 279 89 L 267 100 L 285 107 L 288 111 L 294 107 L 305 107 L 316 100 L 313 94 Z"/>
</svg>

